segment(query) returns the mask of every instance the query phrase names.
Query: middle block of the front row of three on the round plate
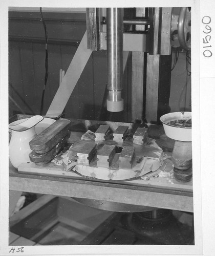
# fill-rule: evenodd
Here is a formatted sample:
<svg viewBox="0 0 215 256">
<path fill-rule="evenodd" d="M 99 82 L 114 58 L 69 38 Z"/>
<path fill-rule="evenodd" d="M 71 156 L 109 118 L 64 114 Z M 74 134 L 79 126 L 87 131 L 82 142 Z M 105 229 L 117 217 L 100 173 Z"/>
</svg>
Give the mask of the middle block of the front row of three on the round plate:
<svg viewBox="0 0 215 256">
<path fill-rule="evenodd" d="M 115 156 L 115 145 L 105 144 L 97 153 L 97 166 L 109 168 Z"/>
</svg>

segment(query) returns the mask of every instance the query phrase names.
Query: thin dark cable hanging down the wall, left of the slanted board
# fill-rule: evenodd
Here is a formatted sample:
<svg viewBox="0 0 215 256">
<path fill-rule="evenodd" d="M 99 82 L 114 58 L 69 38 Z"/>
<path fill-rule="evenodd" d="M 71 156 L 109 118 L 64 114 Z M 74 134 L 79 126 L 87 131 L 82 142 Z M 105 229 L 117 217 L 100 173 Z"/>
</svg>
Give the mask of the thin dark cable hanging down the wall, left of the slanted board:
<svg viewBox="0 0 215 256">
<path fill-rule="evenodd" d="M 47 85 L 47 80 L 48 80 L 48 75 L 49 75 L 49 69 L 48 69 L 48 32 L 46 28 L 46 23 L 44 20 L 44 17 L 42 16 L 42 8 L 39 8 L 40 11 L 40 17 L 42 24 L 44 25 L 44 30 L 45 30 L 45 38 L 46 38 L 46 59 L 45 59 L 45 80 L 44 80 L 44 89 L 42 90 L 42 98 L 41 98 L 41 105 L 40 105 L 40 115 L 42 115 L 42 110 L 44 109 L 44 96 L 45 96 L 45 90 L 46 90 L 46 85 Z"/>
</svg>

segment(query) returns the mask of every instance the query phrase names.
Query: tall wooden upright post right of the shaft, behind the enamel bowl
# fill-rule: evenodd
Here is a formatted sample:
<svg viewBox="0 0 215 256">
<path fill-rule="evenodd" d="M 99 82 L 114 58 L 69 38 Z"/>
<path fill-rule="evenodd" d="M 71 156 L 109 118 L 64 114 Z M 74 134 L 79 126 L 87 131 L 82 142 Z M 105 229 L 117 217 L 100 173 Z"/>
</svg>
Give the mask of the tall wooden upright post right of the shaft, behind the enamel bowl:
<svg viewBox="0 0 215 256">
<path fill-rule="evenodd" d="M 153 45 L 147 54 L 145 118 L 147 122 L 159 123 L 160 116 L 168 113 L 170 94 L 171 8 L 152 8 L 150 12 L 153 17 L 153 31 L 150 32 Z"/>
</svg>

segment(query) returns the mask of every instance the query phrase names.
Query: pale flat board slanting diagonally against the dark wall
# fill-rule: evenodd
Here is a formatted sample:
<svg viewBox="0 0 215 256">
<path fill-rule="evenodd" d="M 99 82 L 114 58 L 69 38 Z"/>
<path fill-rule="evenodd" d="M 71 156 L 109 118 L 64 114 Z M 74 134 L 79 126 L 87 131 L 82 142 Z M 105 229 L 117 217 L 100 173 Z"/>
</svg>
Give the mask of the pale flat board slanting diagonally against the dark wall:
<svg viewBox="0 0 215 256">
<path fill-rule="evenodd" d="M 63 112 L 91 53 L 92 51 L 87 49 L 87 32 L 85 32 L 46 116 L 56 117 Z"/>
</svg>

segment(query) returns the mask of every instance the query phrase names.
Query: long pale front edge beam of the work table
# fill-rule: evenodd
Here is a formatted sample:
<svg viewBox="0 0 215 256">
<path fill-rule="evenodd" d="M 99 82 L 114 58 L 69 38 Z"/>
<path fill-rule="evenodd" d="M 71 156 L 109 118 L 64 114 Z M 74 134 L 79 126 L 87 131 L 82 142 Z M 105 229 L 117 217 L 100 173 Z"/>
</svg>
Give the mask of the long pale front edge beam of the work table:
<svg viewBox="0 0 215 256">
<path fill-rule="evenodd" d="M 192 191 L 111 184 L 86 180 L 39 177 L 14 173 L 10 169 L 9 189 L 89 200 L 193 212 Z M 122 196 L 124 195 L 124 196 Z"/>
</svg>

